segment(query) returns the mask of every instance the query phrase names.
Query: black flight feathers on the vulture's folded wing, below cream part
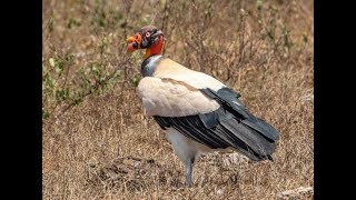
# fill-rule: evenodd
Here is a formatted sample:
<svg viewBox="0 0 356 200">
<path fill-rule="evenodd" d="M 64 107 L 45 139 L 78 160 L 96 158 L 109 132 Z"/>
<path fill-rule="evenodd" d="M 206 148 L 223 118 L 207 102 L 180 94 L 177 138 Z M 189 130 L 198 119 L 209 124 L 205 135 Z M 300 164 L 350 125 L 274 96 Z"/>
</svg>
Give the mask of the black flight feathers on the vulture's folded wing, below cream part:
<svg viewBox="0 0 356 200">
<path fill-rule="evenodd" d="M 174 128 L 212 149 L 234 147 L 253 160 L 271 160 L 275 141 L 279 139 L 275 128 L 249 113 L 238 100 L 240 94 L 234 90 L 222 88 L 215 92 L 208 88 L 201 91 L 215 99 L 220 108 L 187 117 L 155 116 L 157 123 L 162 129 Z"/>
</svg>

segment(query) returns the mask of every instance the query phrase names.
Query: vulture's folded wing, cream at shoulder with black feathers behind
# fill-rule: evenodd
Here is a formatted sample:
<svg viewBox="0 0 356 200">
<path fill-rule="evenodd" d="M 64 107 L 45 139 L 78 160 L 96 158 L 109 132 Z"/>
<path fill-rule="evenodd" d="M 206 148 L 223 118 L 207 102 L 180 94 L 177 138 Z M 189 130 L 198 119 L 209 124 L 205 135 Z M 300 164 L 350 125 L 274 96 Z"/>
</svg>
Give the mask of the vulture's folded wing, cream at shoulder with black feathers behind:
<svg viewBox="0 0 356 200">
<path fill-rule="evenodd" d="M 146 77 L 138 93 L 146 114 L 162 129 L 174 128 L 211 149 L 233 147 L 253 160 L 271 159 L 279 133 L 249 113 L 229 88 L 212 90 L 171 78 Z"/>
</svg>

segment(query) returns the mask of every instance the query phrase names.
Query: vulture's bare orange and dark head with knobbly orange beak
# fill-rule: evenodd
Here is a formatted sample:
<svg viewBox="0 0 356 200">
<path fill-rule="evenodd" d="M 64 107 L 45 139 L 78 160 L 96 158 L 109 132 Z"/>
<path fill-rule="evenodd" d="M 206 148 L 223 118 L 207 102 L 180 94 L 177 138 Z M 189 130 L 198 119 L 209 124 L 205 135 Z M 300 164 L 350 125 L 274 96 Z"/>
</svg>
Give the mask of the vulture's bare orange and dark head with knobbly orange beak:
<svg viewBox="0 0 356 200">
<path fill-rule="evenodd" d="M 134 52 L 137 49 L 147 49 L 144 58 L 151 54 L 160 54 L 164 47 L 164 32 L 155 26 L 140 28 L 136 34 L 127 38 L 128 51 Z"/>
</svg>

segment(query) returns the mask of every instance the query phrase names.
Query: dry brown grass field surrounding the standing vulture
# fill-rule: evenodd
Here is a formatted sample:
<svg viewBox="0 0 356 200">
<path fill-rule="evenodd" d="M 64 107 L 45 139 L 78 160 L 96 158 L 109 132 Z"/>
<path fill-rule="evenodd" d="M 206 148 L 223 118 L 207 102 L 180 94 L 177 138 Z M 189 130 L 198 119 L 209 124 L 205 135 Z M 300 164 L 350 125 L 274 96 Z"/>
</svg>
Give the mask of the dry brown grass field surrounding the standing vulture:
<svg viewBox="0 0 356 200">
<path fill-rule="evenodd" d="M 263 2 L 260 10 L 258 2 L 43 0 L 43 66 L 73 57 L 65 76 L 49 72 L 57 89 L 81 91 L 77 70 L 89 63 L 121 72 L 73 107 L 43 89 L 43 199 L 313 199 L 313 2 Z M 125 46 L 156 12 L 166 56 L 222 80 L 280 131 L 274 162 L 209 154 L 195 167 L 195 187 L 184 186 L 182 164 L 135 92 L 140 53 Z"/>
</svg>

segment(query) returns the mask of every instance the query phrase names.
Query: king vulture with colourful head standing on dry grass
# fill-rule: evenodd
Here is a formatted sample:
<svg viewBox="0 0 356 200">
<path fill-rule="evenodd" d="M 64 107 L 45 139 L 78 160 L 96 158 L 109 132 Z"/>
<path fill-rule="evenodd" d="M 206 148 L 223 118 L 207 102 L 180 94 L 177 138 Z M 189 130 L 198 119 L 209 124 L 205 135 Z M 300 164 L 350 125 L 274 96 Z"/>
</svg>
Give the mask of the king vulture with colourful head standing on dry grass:
<svg viewBox="0 0 356 200">
<path fill-rule="evenodd" d="M 188 187 L 204 152 L 233 149 L 255 161 L 273 160 L 276 129 L 253 116 L 240 94 L 217 79 L 165 58 L 161 30 L 146 26 L 127 43 L 129 52 L 146 49 L 137 91 L 145 114 L 155 119 L 185 164 Z"/>
</svg>

